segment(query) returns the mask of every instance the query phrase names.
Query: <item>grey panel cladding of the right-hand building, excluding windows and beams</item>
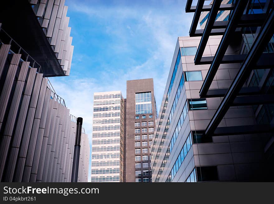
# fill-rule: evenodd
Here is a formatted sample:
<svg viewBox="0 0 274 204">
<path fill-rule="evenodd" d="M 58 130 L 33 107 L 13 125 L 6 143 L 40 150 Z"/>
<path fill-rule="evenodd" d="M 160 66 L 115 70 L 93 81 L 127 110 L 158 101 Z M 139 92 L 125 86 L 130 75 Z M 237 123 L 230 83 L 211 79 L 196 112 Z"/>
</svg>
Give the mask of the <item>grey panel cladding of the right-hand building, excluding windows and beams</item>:
<svg viewBox="0 0 274 204">
<path fill-rule="evenodd" d="M 205 48 L 203 56 L 214 56 L 215 51 L 219 45 L 221 36 L 210 36 Z M 160 113 L 163 110 L 165 96 L 168 92 L 168 86 L 171 80 L 172 71 L 176 62 L 177 53 L 180 47 L 198 46 L 200 37 L 179 37 L 175 48 L 174 57 L 172 60 L 171 71 L 168 77 L 168 83 L 165 89 L 163 102 L 160 108 Z M 229 48 L 226 54 L 233 54 L 234 50 Z M 177 87 L 180 78 L 186 71 L 201 70 L 202 78 L 204 79 L 209 65 L 194 65 L 194 55 L 182 56 L 180 65 L 176 73 L 176 78 L 172 87 L 166 113 L 163 119 L 163 124 L 160 130 L 160 138 L 157 139 L 155 150 L 152 153 L 152 164 L 160 145 L 161 135 L 165 128 L 167 118 L 171 111 L 172 103 L 174 101 Z M 229 88 L 232 83 L 240 64 L 221 64 L 215 76 L 210 89 Z M 187 99 L 200 98 L 199 91 L 203 81 L 185 81 L 178 99 L 172 121 L 170 123 L 168 134 L 163 144 L 163 149 L 159 155 L 158 162 L 152 176 L 152 182 L 155 181 L 159 172 L 160 166 L 167 152 L 172 135 L 177 126 L 177 122 L 182 113 L 182 109 Z M 210 119 L 214 115 L 216 109 L 220 105 L 221 98 L 207 98 L 207 110 L 188 111 L 188 114 L 182 124 L 178 137 L 174 143 L 173 149 L 170 153 L 169 159 L 165 165 L 163 173 L 159 182 L 166 182 L 173 165 L 176 162 L 180 151 L 186 142 L 189 133 L 192 130 L 205 130 Z M 240 126 L 256 124 L 253 109 L 251 106 L 231 107 L 219 127 L 225 126 Z M 158 126 L 158 122 L 156 127 Z M 155 134 L 154 134 L 155 138 Z M 191 149 L 184 158 L 180 168 L 175 174 L 172 182 L 185 182 L 192 170 L 200 166 L 217 166 L 218 178 L 220 181 L 256 181 L 262 179 L 261 172 L 264 167 L 263 147 L 261 139 L 257 134 L 248 135 L 229 135 L 229 136 L 215 136 L 212 143 L 193 144 Z"/>
</svg>

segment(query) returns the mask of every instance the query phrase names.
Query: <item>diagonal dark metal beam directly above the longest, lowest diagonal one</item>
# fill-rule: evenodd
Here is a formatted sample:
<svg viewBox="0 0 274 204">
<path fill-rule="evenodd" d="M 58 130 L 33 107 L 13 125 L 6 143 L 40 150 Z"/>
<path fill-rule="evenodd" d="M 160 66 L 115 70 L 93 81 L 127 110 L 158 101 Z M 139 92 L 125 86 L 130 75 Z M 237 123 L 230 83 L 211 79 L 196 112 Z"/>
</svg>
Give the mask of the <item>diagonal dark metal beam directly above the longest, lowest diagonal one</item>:
<svg viewBox="0 0 274 204">
<path fill-rule="evenodd" d="M 236 5 L 235 5 L 235 9 L 231 13 L 231 18 L 229 20 L 229 24 L 228 24 L 227 28 L 225 29 L 224 36 L 221 39 L 220 45 L 218 46 L 218 49 L 214 56 L 214 59 L 212 60 L 212 64 L 210 65 L 208 73 L 205 77 L 204 83 L 202 84 L 202 87 L 200 90 L 200 97 L 205 97 L 206 92 L 212 83 L 212 80 L 219 68 L 221 60 L 224 57 L 224 54 L 227 50 L 230 40 L 232 39 L 232 37 L 234 35 L 234 31 L 237 27 L 237 22 L 239 21 L 240 17 L 242 16 L 243 11 L 247 5 L 247 2 L 248 2 L 247 0 L 237 1 Z"/>
</svg>

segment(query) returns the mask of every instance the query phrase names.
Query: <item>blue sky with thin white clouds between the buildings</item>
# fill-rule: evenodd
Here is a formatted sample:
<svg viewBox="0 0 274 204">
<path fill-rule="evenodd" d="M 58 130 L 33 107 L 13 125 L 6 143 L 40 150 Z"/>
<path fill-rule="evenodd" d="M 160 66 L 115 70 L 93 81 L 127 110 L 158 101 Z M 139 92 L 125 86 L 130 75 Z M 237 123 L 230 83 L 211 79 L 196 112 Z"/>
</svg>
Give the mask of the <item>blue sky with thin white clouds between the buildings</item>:
<svg viewBox="0 0 274 204">
<path fill-rule="evenodd" d="M 83 117 L 92 141 L 93 93 L 120 90 L 126 80 L 154 78 L 158 110 L 178 36 L 188 36 L 186 1 L 66 0 L 74 45 L 68 77 L 50 78 L 70 113 Z"/>
</svg>

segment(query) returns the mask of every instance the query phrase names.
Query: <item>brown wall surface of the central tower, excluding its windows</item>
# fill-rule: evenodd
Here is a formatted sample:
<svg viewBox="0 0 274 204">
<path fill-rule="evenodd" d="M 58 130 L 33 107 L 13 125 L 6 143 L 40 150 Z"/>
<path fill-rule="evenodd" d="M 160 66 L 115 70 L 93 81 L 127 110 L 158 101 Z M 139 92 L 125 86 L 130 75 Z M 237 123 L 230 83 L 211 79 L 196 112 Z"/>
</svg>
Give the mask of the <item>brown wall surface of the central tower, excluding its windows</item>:
<svg viewBox="0 0 274 204">
<path fill-rule="evenodd" d="M 141 92 L 151 92 L 151 103 L 152 103 L 152 113 L 150 114 L 135 114 L 135 93 L 141 93 Z M 151 177 L 150 173 L 149 176 L 136 176 L 135 177 L 135 170 L 144 170 L 148 169 L 149 171 L 151 170 L 151 165 L 150 165 L 150 159 L 148 161 L 149 163 L 149 168 L 138 168 L 135 169 L 135 163 L 142 163 L 143 161 L 138 161 L 135 162 L 135 155 L 150 155 L 150 151 L 148 150 L 147 154 L 142 154 L 142 141 L 147 141 L 148 146 L 147 148 L 149 149 L 149 136 L 147 140 L 142 140 L 142 132 L 135 134 L 135 122 L 140 122 L 140 126 L 138 128 L 142 129 L 141 122 L 142 121 L 154 121 L 153 126 L 145 126 L 145 127 L 154 127 L 155 130 L 155 101 L 154 101 L 154 85 L 153 85 L 153 79 L 138 79 L 138 80 L 130 80 L 127 81 L 126 83 L 126 145 L 125 145 L 125 182 L 135 182 L 135 178 L 144 178 L 144 177 Z M 145 115 L 146 118 L 142 119 L 142 115 Z M 149 115 L 153 115 L 153 118 L 149 118 Z M 135 119 L 135 116 L 139 116 L 139 119 Z M 148 123 L 148 122 L 147 122 Z M 147 131 L 147 135 L 153 134 L 149 133 Z M 141 140 L 135 140 L 135 135 L 140 135 Z M 140 141 L 141 146 L 140 147 L 135 147 L 135 142 Z M 141 149 L 141 154 L 135 154 L 135 149 Z M 149 156 L 148 156 L 149 157 Z M 142 160 L 142 159 L 141 159 Z"/>
</svg>

